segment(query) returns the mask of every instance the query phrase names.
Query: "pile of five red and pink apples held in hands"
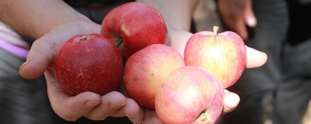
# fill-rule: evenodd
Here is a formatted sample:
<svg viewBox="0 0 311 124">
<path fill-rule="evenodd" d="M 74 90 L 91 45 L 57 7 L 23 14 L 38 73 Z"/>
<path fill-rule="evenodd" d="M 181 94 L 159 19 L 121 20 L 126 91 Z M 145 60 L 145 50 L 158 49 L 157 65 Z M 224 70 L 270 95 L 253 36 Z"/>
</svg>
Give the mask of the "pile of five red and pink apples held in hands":
<svg viewBox="0 0 311 124">
<path fill-rule="evenodd" d="M 213 124 L 224 106 L 224 89 L 246 66 L 242 38 L 231 31 L 193 34 L 184 58 L 164 45 L 160 12 L 130 2 L 111 10 L 101 34 L 69 39 L 55 57 L 55 77 L 65 93 L 100 95 L 123 86 L 140 106 L 155 109 L 165 124 Z"/>
</svg>

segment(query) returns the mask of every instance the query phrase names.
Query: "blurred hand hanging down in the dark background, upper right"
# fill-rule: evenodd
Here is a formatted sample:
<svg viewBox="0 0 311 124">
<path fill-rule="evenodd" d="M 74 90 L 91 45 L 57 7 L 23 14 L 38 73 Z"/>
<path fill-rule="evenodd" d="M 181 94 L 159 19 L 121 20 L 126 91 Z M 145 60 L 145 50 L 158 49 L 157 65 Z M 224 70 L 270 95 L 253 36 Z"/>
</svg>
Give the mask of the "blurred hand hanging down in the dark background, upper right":
<svg viewBox="0 0 311 124">
<path fill-rule="evenodd" d="M 225 25 L 243 40 L 248 38 L 246 26 L 257 25 L 251 0 L 218 0 L 218 9 Z"/>
</svg>

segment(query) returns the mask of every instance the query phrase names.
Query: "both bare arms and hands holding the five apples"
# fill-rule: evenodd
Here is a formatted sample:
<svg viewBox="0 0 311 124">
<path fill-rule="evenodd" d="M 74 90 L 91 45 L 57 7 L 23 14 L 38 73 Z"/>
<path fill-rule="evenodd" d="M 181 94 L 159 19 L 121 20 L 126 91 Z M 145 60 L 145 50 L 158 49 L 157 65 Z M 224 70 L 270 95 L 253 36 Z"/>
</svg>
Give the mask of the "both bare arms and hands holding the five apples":
<svg viewBox="0 0 311 124">
<path fill-rule="evenodd" d="M 192 35 L 189 32 L 190 17 L 198 0 L 138 1 L 150 4 L 162 13 L 169 31 L 168 45 L 183 55 L 183 48 Z M 37 78 L 44 74 L 52 109 L 57 115 L 69 121 L 75 121 L 82 116 L 92 120 L 103 120 L 107 116 L 128 116 L 134 124 L 161 124 L 155 110 L 142 109 L 133 99 L 120 92 L 111 92 L 104 96 L 85 92 L 70 97 L 60 90 L 53 70 L 56 52 L 66 40 L 75 35 L 100 33 L 100 25 L 79 14 L 62 0 L 0 0 L 0 3 L 0 21 L 37 39 L 26 62 L 21 65 L 19 74 L 23 78 Z M 246 50 L 247 68 L 259 67 L 266 62 L 265 53 L 250 47 Z M 239 101 L 237 94 L 225 90 L 222 113 L 235 109 Z"/>
</svg>

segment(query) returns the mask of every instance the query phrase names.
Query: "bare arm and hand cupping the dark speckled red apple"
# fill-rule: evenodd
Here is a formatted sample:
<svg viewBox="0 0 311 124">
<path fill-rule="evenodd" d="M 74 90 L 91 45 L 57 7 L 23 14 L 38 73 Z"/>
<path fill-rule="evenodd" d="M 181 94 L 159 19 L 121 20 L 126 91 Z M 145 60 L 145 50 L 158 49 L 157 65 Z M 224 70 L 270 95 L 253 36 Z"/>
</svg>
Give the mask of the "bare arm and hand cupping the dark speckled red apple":
<svg viewBox="0 0 311 124">
<path fill-rule="evenodd" d="M 57 115 L 68 121 L 75 121 L 82 116 L 92 120 L 103 120 L 107 116 L 128 116 L 133 123 L 141 122 L 142 116 L 138 116 L 140 107 L 122 93 L 111 92 L 99 96 L 96 93 L 85 92 L 70 97 L 60 90 L 55 80 L 53 60 L 61 45 L 78 34 L 100 33 L 100 25 L 79 14 L 62 0 L 0 2 L 0 14 L 3 15 L 0 20 L 13 29 L 37 39 L 19 73 L 23 78 L 37 78 L 44 74 L 48 96 Z"/>
</svg>

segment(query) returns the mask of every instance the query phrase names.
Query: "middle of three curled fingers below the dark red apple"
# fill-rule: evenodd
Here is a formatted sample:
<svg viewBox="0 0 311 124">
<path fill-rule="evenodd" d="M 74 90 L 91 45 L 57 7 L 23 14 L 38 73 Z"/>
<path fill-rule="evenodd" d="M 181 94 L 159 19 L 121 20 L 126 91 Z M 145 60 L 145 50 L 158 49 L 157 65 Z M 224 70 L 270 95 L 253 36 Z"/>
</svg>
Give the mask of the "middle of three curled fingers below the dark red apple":
<svg viewBox="0 0 311 124">
<path fill-rule="evenodd" d="M 116 113 L 126 104 L 126 98 L 119 92 L 110 92 L 101 96 L 101 103 L 85 115 L 91 120 L 104 120 Z M 124 113 L 123 113 L 124 116 Z M 119 116 L 121 117 L 121 115 Z"/>
</svg>

